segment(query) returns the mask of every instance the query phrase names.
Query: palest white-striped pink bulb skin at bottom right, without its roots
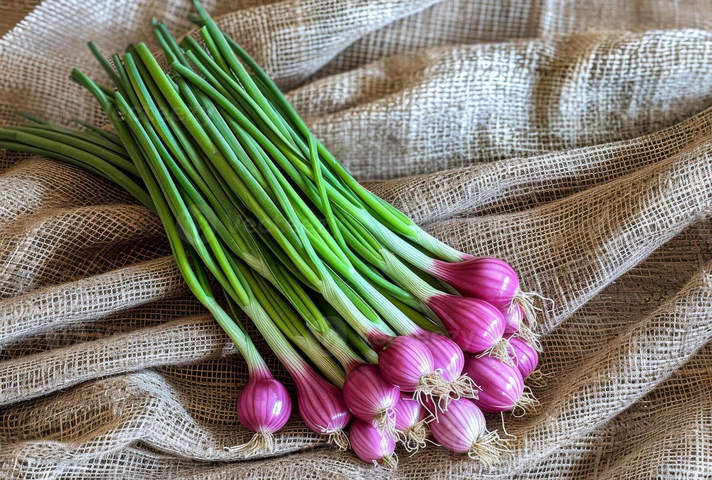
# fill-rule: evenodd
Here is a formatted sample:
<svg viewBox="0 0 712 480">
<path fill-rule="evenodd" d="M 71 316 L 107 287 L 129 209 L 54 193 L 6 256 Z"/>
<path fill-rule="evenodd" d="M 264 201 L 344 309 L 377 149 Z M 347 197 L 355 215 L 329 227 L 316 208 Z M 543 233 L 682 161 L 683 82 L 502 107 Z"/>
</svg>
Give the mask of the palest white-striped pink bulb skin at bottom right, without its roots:
<svg viewBox="0 0 712 480">
<path fill-rule="evenodd" d="M 430 422 L 435 441 L 451 452 L 467 453 L 485 430 L 485 417 L 468 398 L 452 400 L 446 412 Z"/>
</svg>

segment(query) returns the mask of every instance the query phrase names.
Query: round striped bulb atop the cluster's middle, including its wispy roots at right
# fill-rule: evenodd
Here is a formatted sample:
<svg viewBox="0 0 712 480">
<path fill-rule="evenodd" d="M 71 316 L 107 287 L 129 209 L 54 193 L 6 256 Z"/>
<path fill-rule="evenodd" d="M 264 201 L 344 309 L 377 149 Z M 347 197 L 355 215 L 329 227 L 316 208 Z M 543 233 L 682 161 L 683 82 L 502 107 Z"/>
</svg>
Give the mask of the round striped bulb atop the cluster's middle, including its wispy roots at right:
<svg viewBox="0 0 712 480">
<path fill-rule="evenodd" d="M 378 367 L 384 379 L 413 397 L 446 397 L 451 385 L 435 370 L 433 355 L 417 338 L 399 336 L 384 346 Z"/>
</svg>

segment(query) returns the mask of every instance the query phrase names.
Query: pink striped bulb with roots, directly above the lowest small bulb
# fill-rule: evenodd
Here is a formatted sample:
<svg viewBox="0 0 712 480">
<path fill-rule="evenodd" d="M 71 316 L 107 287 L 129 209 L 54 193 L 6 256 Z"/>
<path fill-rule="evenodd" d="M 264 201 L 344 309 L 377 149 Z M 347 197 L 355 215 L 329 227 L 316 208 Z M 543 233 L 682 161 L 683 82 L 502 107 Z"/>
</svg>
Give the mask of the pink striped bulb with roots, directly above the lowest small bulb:
<svg viewBox="0 0 712 480">
<path fill-rule="evenodd" d="M 355 367 L 344 382 L 344 401 L 354 417 L 375 422 L 381 430 L 392 431 L 395 427 L 393 407 L 398 402 L 399 392 L 398 387 L 383 379 L 376 365 Z"/>
</svg>

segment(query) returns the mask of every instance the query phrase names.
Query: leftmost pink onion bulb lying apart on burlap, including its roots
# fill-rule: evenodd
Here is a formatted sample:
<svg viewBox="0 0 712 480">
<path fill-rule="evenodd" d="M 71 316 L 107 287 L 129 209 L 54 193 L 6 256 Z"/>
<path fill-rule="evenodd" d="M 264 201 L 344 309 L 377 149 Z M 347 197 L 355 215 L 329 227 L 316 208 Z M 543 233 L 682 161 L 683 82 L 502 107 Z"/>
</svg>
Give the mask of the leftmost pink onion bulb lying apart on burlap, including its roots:
<svg viewBox="0 0 712 480">
<path fill-rule="evenodd" d="M 246 444 L 227 450 L 244 452 L 245 456 L 271 452 L 274 432 L 284 427 L 291 412 L 292 400 L 284 385 L 269 372 L 252 375 L 237 399 L 237 414 L 240 423 L 255 434 Z"/>
</svg>

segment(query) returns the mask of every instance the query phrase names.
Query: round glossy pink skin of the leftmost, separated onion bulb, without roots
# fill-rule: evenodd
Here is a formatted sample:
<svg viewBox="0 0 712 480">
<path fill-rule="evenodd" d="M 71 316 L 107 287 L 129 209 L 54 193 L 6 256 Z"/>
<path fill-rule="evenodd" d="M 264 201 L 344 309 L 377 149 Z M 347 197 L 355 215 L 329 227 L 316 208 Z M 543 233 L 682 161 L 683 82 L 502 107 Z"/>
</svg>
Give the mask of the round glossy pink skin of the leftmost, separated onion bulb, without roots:
<svg viewBox="0 0 712 480">
<path fill-rule="evenodd" d="M 237 400 L 240 423 L 251 432 L 274 433 L 284 427 L 291 412 L 289 392 L 274 378 L 251 378 Z"/>
</svg>

